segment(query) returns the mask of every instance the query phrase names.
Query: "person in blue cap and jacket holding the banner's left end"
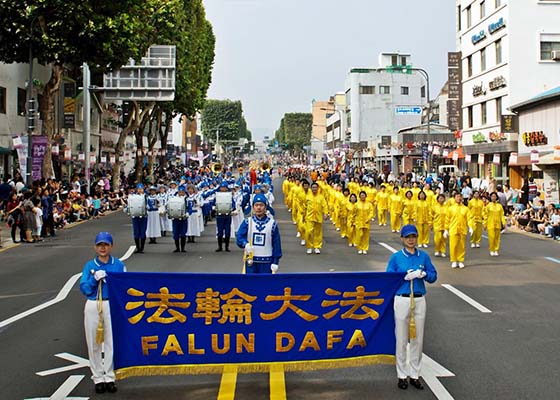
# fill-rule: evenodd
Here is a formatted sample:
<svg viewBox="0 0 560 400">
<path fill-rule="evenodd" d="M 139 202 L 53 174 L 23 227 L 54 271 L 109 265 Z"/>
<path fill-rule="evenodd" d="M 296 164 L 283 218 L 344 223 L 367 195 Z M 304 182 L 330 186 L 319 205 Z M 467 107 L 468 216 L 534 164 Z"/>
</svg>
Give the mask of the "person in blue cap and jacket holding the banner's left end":
<svg viewBox="0 0 560 400">
<path fill-rule="evenodd" d="M 99 232 L 95 237 L 96 257 L 84 265 L 80 279 L 80 291 L 87 297 L 84 307 L 84 328 L 96 393 L 117 391 L 113 370 L 113 331 L 106 277 L 107 272 L 126 272 L 126 267 L 121 260 L 111 255 L 112 249 L 111 234 Z M 102 343 L 98 343 L 97 340 L 100 318 L 103 319 Z"/>
</svg>

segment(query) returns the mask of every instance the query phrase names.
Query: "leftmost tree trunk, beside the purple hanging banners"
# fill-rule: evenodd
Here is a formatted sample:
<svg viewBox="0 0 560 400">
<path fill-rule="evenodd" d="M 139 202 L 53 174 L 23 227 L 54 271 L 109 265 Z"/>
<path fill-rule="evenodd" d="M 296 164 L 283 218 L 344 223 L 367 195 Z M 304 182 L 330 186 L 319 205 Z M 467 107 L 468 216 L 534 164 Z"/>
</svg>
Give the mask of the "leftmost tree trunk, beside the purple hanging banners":
<svg viewBox="0 0 560 400">
<path fill-rule="evenodd" d="M 54 136 L 54 95 L 60 88 L 63 72 L 64 66 L 61 63 L 55 62 L 52 66 L 51 77 L 43 89 L 43 99 L 39 105 L 41 118 L 43 120 L 41 134 L 47 138 L 47 148 L 45 149 L 45 157 L 43 158 L 42 166 L 42 174 L 45 179 L 54 177 L 51 153 L 52 139 Z M 31 149 L 29 149 L 29 151 L 31 151 Z"/>
</svg>

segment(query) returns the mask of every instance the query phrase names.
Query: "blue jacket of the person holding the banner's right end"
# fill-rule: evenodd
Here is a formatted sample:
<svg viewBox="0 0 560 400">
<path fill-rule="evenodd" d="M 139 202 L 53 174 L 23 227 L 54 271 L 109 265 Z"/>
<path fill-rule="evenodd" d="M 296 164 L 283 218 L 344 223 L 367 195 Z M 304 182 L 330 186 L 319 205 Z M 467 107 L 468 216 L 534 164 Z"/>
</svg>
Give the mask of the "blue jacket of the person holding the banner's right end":
<svg viewBox="0 0 560 400">
<path fill-rule="evenodd" d="M 424 279 L 414 279 L 414 293 L 426 294 L 424 281 L 434 283 L 437 280 L 437 271 L 430 260 L 430 256 L 422 251 L 416 249 L 414 254 L 410 254 L 405 249 L 394 253 L 389 259 L 387 264 L 387 272 L 404 272 L 409 269 L 416 270 L 422 269 L 426 272 Z M 401 287 L 397 290 L 396 295 L 410 294 L 410 282 L 403 281 Z"/>
</svg>

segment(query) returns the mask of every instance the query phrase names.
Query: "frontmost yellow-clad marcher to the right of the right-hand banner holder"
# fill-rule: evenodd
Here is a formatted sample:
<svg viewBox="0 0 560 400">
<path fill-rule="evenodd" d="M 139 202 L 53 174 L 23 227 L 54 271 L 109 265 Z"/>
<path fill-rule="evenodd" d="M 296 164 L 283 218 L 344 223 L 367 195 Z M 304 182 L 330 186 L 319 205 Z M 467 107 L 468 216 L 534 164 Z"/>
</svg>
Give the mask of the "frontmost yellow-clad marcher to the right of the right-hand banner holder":
<svg viewBox="0 0 560 400">
<path fill-rule="evenodd" d="M 465 246 L 469 225 L 469 209 L 463 203 L 463 195 L 455 193 L 455 204 L 447 209 L 445 215 L 445 232 L 449 236 L 449 258 L 451 268 L 465 268 Z"/>
</svg>

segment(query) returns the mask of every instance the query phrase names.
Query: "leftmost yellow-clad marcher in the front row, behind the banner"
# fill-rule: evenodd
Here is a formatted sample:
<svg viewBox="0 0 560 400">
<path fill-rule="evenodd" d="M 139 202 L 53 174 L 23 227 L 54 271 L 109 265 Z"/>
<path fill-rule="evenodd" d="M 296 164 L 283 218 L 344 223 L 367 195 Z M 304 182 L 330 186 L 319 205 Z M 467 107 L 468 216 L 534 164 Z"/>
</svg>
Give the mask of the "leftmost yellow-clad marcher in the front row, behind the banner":
<svg viewBox="0 0 560 400">
<path fill-rule="evenodd" d="M 321 254 L 323 247 L 323 220 L 329 213 L 327 201 L 319 193 L 319 185 L 313 182 L 311 194 L 307 196 L 307 210 L 305 213 L 305 228 L 307 240 L 307 254 Z"/>
</svg>

